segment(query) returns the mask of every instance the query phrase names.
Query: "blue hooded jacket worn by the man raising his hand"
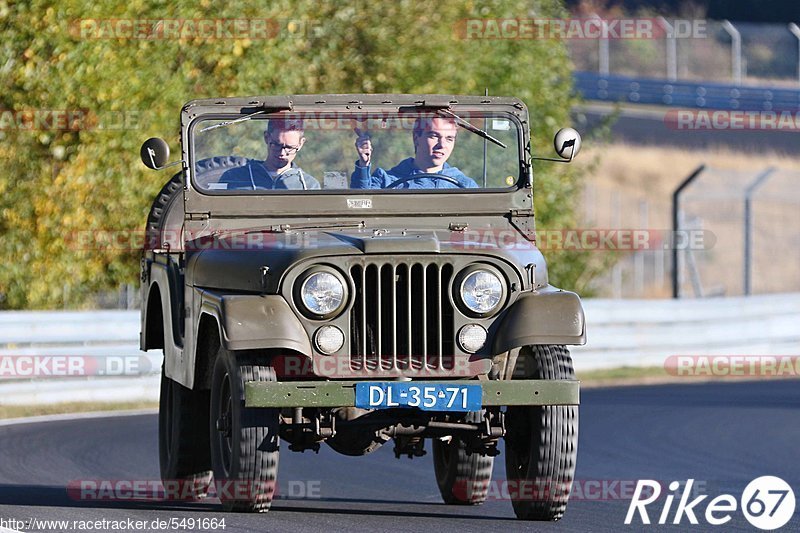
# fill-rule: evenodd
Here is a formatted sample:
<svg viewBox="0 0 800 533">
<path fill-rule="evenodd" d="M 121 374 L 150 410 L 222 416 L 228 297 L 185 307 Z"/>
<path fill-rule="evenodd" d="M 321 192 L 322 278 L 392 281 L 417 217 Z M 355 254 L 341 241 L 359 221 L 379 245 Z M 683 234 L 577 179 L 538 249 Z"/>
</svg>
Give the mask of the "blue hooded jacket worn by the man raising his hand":
<svg viewBox="0 0 800 533">
<path fill-rule="evenodd" d="M 395 181 L 413 176 L 415 174 L 425 174 L 424 171 L 414 166 L 414 159 L 409 157 L 404 159 L 389 172 L 382 168 L 375 169 L 375 172 L 370 174 L 370 167 L 360 167 L 356 164 L 355 170 L 350 175 L 350 188 L 351 189 L 385 189 Z M 477 188 L 478 184 L 472 178 L 467 177 L 463 172 L 456 167 L 451 167 L 447 163 L 444 164 L 441 172 L 444 176 L 455 178 L 465 188 Z M 420 177 L 415 180 L 407 181 L 402 185 L 396 187 L 397 189 L 457 189 L 453 183 L 447 180 L 438 180 L 431 177 Z"/>
</svg>

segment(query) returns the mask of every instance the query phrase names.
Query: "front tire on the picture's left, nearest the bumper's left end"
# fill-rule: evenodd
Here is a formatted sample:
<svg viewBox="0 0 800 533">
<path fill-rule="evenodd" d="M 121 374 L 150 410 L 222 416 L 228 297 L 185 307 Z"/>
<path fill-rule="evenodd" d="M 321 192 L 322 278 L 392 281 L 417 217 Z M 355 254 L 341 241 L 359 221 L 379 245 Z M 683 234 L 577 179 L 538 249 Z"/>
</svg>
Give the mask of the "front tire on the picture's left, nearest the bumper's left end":
<svg viewBox="0 0 800 533">
<path fill-rule="evenodd" d="M 245 408 L 244 384 L 276 381 L 267 361 L 220 346 L 211 378 L 211 463 L 228 511 L 266 512 L 278 474 L 280 411 Z"/>
</svg>

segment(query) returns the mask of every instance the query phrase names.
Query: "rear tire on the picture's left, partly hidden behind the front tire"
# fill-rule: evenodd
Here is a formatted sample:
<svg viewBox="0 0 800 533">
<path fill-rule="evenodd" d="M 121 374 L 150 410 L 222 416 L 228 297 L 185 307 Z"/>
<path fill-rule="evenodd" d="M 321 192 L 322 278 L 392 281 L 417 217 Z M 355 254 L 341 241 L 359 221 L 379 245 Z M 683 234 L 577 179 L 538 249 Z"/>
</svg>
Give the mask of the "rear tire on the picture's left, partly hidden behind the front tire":
<svg viewBox="0 0 800 533">
<path fill-rule="evenodd" d="M 208 447 L 209 391 L 193 391 L 161 371 L 158 455 L 167 498 L 205 497 L 211 485 Z M 176 483 L 178 486 L 176 486 Z"/>
</svg>

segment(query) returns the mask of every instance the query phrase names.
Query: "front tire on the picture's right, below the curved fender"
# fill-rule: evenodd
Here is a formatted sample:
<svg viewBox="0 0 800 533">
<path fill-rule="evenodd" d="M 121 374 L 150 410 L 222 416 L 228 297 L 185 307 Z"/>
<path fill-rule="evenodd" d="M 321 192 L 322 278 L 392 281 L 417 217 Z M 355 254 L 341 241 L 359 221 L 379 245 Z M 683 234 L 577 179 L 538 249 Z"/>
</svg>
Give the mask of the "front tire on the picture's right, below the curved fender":
<svg viewBox="0 0 800 533">
<path fill-rule="evenodd" d="M 528 379 L 575 379 L 565 346 L 523 348 L 517 368 Z M 506 412 L 506 473 L 514 513 L 521 520 L 564 516 L 578 455 L 578 407 L 509 407 Z"/>
</svg>

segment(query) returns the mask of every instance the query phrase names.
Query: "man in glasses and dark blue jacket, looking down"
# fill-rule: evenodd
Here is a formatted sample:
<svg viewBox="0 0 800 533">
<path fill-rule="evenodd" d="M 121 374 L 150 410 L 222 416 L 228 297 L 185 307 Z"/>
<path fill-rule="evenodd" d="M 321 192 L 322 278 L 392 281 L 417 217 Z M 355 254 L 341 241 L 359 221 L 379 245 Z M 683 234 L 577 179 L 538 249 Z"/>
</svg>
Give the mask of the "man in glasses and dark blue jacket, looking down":
<svg viewBox="0 0 800 533">
<path fill-rule="evenodd" d="M 220 177 L 227 189 L 319 189 L 319 182 L 294 164 L 303 147 L 303 124 L 298 120 L 275 118 L 264 132 L 267 158 L 248 159 L 247 164 L 232 168 Z"/>
</svg>

